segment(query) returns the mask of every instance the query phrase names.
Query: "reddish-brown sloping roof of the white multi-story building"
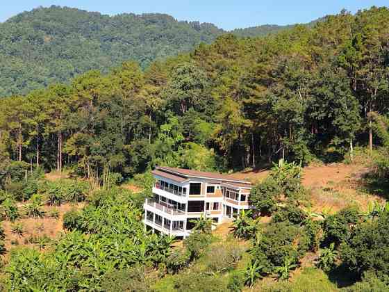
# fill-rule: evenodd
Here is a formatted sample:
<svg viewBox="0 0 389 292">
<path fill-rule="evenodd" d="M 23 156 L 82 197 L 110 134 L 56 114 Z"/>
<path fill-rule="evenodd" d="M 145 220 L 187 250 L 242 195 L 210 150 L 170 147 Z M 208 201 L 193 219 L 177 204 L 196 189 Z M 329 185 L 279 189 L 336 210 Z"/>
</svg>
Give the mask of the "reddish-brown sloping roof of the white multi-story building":
<svg viewBox="0 0 389 292">
<path fill-rule="evenodd" d="M 235 179 L 234 177 L 231 177 L 231 175 L 221 175 L 217 172 L 204 172 L 204 171 L 197 171 L 197 170 L 187 170 L 184 168 L 169 168 L 167 166 L 156 166 L 156 170 L 154 171 L 160 171 L 164 173 L 164 176 L 166 177 L 167 172 L 169 172 L 172 175 L 178 175 L 179 177 L 184 177 L 185 179 L 190 177 L 196 177 L 201 179 L 215 179 L 220 182 L 223 181 L 230 181 L 233 183 L 240 183 L 245 186 L 250 186 L 249 181 L 245 181 L 242 179 Z"/>
</svg>

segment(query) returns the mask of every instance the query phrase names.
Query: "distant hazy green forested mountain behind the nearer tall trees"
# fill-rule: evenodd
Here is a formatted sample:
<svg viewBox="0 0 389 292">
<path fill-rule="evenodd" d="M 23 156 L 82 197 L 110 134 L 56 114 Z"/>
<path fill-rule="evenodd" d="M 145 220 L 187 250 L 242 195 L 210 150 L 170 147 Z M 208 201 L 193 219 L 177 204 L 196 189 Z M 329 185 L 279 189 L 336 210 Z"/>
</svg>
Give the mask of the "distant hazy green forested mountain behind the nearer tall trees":
<svg viewBox="0 0 389 292">
<path fill-rule="evenodd" d="M 265 35 L 282 26 L 233 31 Z M 37 8 L 0 24 L 0 97 L 26 94 L 88 70 L 108 72 L 125 60 L 153 60 L 190 51 L 222 33 L 213 24 L 178 22 L 163 14 L 110 17 L 74 8 Z"/>
</svg>

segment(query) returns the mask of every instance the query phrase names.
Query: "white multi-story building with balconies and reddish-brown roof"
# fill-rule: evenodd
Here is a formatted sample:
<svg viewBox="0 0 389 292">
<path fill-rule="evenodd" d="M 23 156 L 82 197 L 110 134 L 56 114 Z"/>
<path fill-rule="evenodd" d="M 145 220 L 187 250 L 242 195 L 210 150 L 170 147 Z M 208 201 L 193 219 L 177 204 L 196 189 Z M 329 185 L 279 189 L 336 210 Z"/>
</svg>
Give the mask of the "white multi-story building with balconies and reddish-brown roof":
<svg viewBox="0 0 389 292">
<path fill-rule="evenodd" d="M 251 184 L 230 175 L 157 166 L 152 199 L 144 202 L 144 224 L 153 231 L 185 237 L 192 219 L 204 216 L 215 224 L 249 209 Z"/>
</svg>

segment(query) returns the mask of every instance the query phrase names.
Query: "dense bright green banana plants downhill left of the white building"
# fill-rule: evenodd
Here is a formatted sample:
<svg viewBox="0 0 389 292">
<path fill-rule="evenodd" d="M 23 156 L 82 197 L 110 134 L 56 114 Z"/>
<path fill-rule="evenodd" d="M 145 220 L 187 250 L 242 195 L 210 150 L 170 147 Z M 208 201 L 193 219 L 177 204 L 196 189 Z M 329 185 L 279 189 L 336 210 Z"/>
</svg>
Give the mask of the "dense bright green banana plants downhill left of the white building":
<svg viewBox="0 0 389 292">
<path fill-rule="evenodd" d="M 85 207 L 77 217 L 74 231 L 58 238 L 52 249 L 11 254 L 6 267 L 8 287 L 17 291 L 99 291 L 109 285 L 147 289 L 143 272 L 131 269 L 156 267 L 170 255 L 174 238 L 146 234 L 141 212 L 125 191 L 106 191 L 98 204 Z M 131 281 L 126 282 L 129 275 Z"/>
</svg>

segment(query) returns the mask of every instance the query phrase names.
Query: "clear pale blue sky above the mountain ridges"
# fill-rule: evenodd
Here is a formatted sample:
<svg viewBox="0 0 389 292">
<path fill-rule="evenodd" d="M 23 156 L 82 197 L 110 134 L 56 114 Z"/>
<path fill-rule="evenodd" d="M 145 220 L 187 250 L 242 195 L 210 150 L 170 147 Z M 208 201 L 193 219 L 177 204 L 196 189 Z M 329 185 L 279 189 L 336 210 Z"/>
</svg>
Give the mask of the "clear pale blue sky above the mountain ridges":
<svg viewBox="0 0 389 292">
<path fill-rule="evenodd" d="M 115 15 L 167 13 L 179 20 L 212 22 L 230 30 L 260 24 L 310 22 L 345 8 L 352 13 L 388 0 L 3 0 L 0 22 L 38 6 L 69 6 Z"/>
</svg>

